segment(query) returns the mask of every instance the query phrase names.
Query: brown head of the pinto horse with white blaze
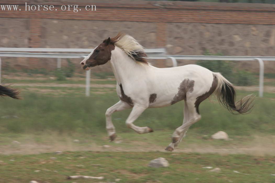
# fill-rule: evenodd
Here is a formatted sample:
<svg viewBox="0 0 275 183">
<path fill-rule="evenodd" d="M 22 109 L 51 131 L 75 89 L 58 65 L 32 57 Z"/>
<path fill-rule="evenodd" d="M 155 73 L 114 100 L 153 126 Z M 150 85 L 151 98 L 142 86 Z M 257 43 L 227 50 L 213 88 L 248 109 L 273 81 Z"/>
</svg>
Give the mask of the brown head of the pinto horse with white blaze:
<svg viewBox="0 0 275 183">
<path fill-rule="evenodd" d="M 90 67 L 106 64 L 111 60 L 111 51 L 114 49 L 115 46 L 110 38 L 104 40 L 80 62 L 82 69 L 89 70 Z"/>
</svg>

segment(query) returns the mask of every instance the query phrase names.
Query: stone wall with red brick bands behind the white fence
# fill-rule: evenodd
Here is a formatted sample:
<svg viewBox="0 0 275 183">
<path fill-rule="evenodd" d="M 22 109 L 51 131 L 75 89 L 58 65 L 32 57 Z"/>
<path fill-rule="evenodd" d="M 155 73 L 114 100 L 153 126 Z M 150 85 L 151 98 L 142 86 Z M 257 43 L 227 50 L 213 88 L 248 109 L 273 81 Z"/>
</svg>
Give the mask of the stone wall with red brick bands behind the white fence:
<svg viewBox="0 0 275 183">
<path fill-rule="evenodd" d="M 24 11 L 25 2 L 54 5 L 57 11 Z M 274 56 L 274 4 L 0 0 L 3 4 L 19 4 L 21 11 L 0 10 L 0 20 L 27 20 L 29 32 L 27 46 L 20 46 L 15 44 L 18 35 L 11 37 L 0 25 L 5 40 L 1 47 L 93 48 L 105 37 L 122 31 L 147 48 L 166 47 L 168 54 L 198 55 L 208 49 L 224 55 Z M 61 5 L 68 4 L 77 4 L 82 10 L 61 11 Z M 97 11 L 84 10 L 86 5 L 96 5 Z M 30 64 L 35 64 L 35 59 Z M 164 61 L 158 66 L 163 67 Z"/>
</svg>

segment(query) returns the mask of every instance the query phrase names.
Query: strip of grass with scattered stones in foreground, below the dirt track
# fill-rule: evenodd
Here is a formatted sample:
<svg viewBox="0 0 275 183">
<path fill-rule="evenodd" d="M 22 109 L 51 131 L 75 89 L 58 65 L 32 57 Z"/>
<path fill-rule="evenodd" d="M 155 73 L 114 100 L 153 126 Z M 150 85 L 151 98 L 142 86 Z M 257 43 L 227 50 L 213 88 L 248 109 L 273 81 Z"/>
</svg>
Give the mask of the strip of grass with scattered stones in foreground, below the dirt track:
<svg viewBox="0 0 275 183">
<path fill-rule="evenodd" d="M 56 157 L 57 159 L 51 159 Z M 164 157 L 166 168 L 148 167 Z M 163 152 L 65 152 L 56 155 L 0 155 L 1 181 L 38 182 L 275 182 L 274 157 Z M 11 161 L 14 160 L 14 161 Z M 96 166 L 99 165 L 99 166 Z M 209 172 L 203 167 L 221 168 Z M 35 172 L 35 170 L 40 170 Z M 235 173 L 238 171 L 240 173 Z M 66 180 L 67 176 L 104 176 L 104 180 Z"/>
</svg>

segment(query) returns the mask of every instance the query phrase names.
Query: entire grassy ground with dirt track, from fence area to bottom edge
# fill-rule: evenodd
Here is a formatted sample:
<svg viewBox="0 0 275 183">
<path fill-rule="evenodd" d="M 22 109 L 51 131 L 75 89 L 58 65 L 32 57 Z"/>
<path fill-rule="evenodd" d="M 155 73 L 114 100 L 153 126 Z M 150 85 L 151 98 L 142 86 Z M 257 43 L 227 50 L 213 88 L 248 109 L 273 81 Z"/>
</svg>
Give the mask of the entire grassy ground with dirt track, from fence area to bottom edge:
<svg viewBox="0 0 275 183">
<path fill-rule="evenodd" d="M 118 137 L 108 142 L 105 111 L 119 100 L 112 77 L 93 79 L 90 97 L 84 96 L 83 77 L 66 81 L 32 77 L 4 80 L 15 83 L 13 87 L 21 90 L 22 100 L 0 101 L 1 183 L 115 182 L 117 178 L 127 183 L 275 182 L 274 92 L 257 97 L 248 115 L 230 114 L 215 97 L 212 102 L 204 101 L 200 105 L 202 120 L 191 126 L 171 153 L 164 148 L 171 142 L 174 129 L 182 124 L 183 102 L 147 109 L 135 124 L 152 127 L 154 133 L 149 134 L 139 135 L 126 127 L 130 110 L 114 113 Z M 237 96 L 251 93 L 257 95 L 257 91 L 238 90 Z M 211 139 L 217 131 L 226 131 L 233 140 Z M 79 142 L 73 142 L 75 139 Z M 15 140 L 20 143 L 12 143 Z M 166 158 L 170 167 L 147 166 L 158 157 Z M 206 166 L 221 168 L 221 172 L 202 168 Z M 66 179 L 79 174 L 105 179 Z"/>
</svg>

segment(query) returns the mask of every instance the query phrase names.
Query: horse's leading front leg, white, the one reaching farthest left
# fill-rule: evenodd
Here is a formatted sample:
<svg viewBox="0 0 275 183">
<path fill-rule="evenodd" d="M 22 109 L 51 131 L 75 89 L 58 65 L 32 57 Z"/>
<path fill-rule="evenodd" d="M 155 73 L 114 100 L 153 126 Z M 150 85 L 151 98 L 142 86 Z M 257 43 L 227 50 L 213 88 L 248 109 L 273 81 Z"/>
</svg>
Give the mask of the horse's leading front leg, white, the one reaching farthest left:
<svg viewBox="0 0 275 183">
<path fill-rule="evenodd" d="M 124 109 L 130 109 L 132 106 L 128 105 L 126 102 L 122 102 L 121 100 L 113 105 L 112 107 L 108 108 L 105 116 L 106 116 L 106 129 L 108 132 L 108 136 L 110 140 L 113 141 L 116 138 L 116 128 L 112 122 L 112 113 L 117 111 L 123 111 Z"/>
</svg>

